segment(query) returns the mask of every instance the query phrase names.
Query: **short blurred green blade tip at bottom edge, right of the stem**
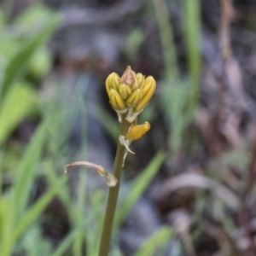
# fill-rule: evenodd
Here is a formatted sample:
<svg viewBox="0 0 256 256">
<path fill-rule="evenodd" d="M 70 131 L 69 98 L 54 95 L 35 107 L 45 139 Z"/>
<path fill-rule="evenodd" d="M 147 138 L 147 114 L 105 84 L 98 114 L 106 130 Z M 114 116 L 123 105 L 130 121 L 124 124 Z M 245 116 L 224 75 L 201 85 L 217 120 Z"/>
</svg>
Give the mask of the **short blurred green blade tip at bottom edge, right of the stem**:
<svg viewBox="0 0 256 256">
<path fill-rule="evenodd" d="M 163 250 L 162 253 L 164 253 L 165 247 L 171 238 L 171 228 L 163 226 L 143 243 L 143 246 L 137 250 L 137 253 L 135 253 L 134 256 L 154 256 L 156 253 L 159 254 L 161 250 Z M 162 253 L 160 253 L 160 255 L 163 255 Z"/>
</svg>

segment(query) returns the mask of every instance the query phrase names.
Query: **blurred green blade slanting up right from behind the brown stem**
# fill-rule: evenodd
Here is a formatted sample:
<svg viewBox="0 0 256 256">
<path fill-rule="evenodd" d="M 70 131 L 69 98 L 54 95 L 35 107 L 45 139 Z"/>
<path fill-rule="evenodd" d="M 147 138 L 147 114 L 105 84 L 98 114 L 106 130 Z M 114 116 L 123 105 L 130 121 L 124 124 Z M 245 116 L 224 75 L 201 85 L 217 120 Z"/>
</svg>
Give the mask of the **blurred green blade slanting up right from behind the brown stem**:
<svg viewBox="0 0 256 256">
<path fill-rule="evenodd" d="M 148 187 L 148 184 L 152 181 L 156 172 L 159 171 L 160 166 L 166 159 L 166 154 L 159 152 L 154 156 L 154 159 L 150 161 L 148 166 L 143 170 L 136 180 L 131 183 L 130 193 L 125 200 L 119 205 L 119 210 L 116 212 L 115 228 L 121 224 L 128 212 L 135 205 L 139 197 L 143 194 L 144 190 Z"/>
</svg>

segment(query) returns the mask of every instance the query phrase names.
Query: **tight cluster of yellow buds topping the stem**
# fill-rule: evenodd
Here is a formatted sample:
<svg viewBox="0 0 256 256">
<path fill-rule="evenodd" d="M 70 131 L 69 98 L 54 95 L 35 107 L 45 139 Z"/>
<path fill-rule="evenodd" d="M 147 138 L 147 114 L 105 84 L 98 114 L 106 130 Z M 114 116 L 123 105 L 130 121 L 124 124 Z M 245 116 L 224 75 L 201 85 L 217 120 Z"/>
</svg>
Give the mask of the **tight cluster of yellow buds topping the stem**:
<svg viewBox="0 0 256 256">
<path fill-rule="evenodd" d="M 117 73 L 111 73 L 106 80 L 106 89 L 110 104 L 119 114 L 119 121 L 121 114 L 127 113 L 125 119 L 132 123 L 148 104 L 155 86 L 152 76 L 145 79 L 142 73 L 135 73 L 130 66 L 121 78 Z"/>
</svg>

